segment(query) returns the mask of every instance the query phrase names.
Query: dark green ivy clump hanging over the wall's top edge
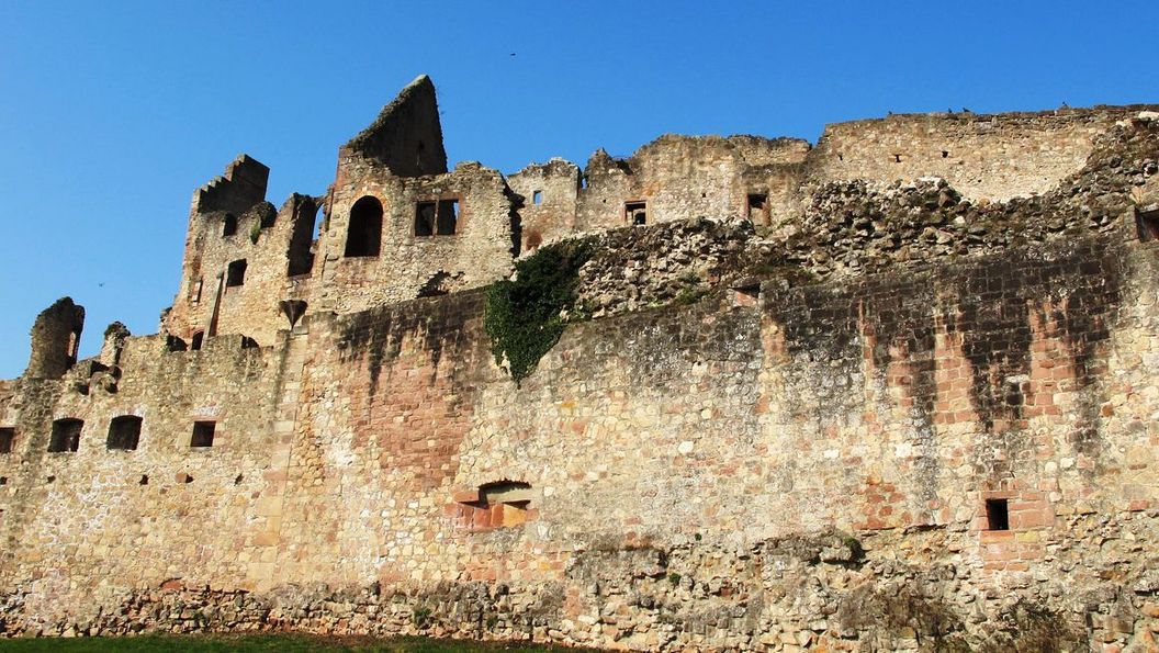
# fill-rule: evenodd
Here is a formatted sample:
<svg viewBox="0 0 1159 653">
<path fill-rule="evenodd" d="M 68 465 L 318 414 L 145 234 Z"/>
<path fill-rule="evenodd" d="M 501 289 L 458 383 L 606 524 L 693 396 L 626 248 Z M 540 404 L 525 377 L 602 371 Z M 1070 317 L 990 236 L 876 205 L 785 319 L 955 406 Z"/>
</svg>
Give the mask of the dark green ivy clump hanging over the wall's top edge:
<svg viewBox="0 0 1159 653">
<path fill-rule="evenodd" d="M 539 360 L 563 335 L 561 313 L 576 302 L 580 268 L 591 257 L 591 249 L 589 240 L 541 247 L 516 261 L 513 281 L 488 286 L 483 328 L 491 339 L 495 362 L 506 358 L 517 384 L 535 371 Z"/>
</svg>

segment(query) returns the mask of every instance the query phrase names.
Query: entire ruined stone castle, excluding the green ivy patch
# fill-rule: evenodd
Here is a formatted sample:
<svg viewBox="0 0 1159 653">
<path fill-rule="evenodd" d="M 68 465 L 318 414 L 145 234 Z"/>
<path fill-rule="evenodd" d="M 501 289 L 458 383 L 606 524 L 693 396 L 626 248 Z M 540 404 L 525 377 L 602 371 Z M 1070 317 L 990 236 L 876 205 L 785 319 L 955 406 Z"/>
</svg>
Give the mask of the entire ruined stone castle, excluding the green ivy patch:
<svg viewBox="0 0 1159 653">
<path fill-rule="evenodd" d="M 0 382 L 0 627 L 1147 650 L 1159 114 L 890 116 L 447 169 L 418 78 L 321 196 L 194 196 L 161 333 Z M 321 228 L 316 232 L 321 213 Z M 585 242 L 512 384 L 483 286 Z"/>
</svg>

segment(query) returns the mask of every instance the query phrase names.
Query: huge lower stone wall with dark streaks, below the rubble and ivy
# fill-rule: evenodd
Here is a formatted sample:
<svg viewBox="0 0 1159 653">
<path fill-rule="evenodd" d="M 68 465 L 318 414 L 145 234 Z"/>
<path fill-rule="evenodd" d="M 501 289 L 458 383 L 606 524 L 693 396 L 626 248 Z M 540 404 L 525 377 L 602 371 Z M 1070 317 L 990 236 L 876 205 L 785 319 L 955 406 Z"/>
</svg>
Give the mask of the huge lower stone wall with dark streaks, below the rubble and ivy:
<svg viewBox="0 0 1159 653">
<path fill-rule="evenodd" d="M 475 293 L 314 315 L 272 350 L 130 339 L 115 396 L 54 401 L 80 451 L 35 434 L 10 463 L 6 624 L 1145 646 L 1157 271 L 1152 245 L 1084 239 L 770 282 L 576 325 L 519 387 Z M 140 448 L 104 451 L 145 401 Z M 221 441 L 191 451 L 203 416 Z M 504 483 L 520 501 L 481 499 Z"/>
</svg>

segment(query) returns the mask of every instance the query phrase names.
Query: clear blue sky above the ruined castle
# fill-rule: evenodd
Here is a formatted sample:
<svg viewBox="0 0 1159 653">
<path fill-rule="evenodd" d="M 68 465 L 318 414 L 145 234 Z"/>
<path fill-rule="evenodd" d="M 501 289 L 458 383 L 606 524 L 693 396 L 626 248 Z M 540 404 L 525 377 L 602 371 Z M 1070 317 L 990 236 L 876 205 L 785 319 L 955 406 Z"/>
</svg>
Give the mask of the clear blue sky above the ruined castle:
<svg viewBox="0 0 1159 653">
<path fill-rule="evenodd" d="M 65 295 L 82 355 L 112 320 L 154 333 L 198 186 L 247 152 L 274 204 L 322 193 L 423 72 L 452 165 L 505 173 L 664 132 L 1159 101 L 1154 0 L 0 0 L 0 378 Z"/>
</svg>

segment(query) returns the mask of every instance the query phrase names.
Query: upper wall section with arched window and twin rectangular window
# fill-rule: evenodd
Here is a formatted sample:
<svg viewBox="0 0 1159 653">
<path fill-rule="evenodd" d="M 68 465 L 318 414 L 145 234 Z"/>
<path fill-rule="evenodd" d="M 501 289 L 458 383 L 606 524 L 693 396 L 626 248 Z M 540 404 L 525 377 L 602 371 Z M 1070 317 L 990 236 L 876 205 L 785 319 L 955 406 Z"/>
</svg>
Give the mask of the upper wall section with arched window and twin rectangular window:
<svg viewBox="0 0 1159 653">
<path fill-rule="evenodd" d="M 365 196 L 382 204 L 378 256 L 345 256 L 350 212 Z M 420 201 L 459 199 L 453 235 L 415 235 Z M 445 175 L 398 177 L 359 158 L 344 159 L 330 198 L 328 228 L 319 242 L 315 275 L 321 285 L 312 306 L 350 313 L 414 299 L 431 283 L 443 291 L 476 288 L 511 269 L 511 199 L 503 176 L 479 164 L 460 164 Z"/>
</svg>

